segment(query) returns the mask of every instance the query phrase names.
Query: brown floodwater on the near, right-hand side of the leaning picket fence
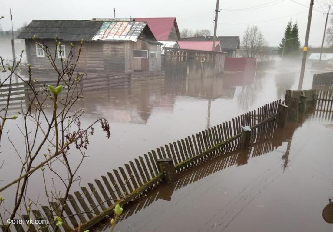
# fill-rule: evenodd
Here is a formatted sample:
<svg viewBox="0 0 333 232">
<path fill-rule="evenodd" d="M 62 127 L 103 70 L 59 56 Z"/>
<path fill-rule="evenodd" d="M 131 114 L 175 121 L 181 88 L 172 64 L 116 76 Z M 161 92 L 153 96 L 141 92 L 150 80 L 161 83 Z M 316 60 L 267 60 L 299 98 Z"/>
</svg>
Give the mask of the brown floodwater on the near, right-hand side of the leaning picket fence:
<svg viewBox="0 0 333 232">
<path fill-rule="evenodd" d="M 322 217 L 333 196 L 332 113 L 271 133 L 125 206 L 117 231 L 332 231 Z M 108 224 L 92 231 L 109 231 Z"/>
</svg>

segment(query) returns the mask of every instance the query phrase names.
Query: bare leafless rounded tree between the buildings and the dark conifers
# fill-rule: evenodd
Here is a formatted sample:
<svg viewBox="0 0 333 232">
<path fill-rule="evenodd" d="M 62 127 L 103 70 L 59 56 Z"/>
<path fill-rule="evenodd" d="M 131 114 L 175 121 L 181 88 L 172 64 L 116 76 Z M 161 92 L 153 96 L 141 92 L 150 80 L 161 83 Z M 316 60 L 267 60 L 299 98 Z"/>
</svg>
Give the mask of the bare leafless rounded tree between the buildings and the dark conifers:
<svg viewBox="0 0 333 232">
<path fill-rule="evenodd" d="M 256 25 L 247 26 L 243 39 L 242 46 L 245 50 L 246 57 L 256 57 L 258 52 L 267 46 L 267 42 Z"/>
</svg>

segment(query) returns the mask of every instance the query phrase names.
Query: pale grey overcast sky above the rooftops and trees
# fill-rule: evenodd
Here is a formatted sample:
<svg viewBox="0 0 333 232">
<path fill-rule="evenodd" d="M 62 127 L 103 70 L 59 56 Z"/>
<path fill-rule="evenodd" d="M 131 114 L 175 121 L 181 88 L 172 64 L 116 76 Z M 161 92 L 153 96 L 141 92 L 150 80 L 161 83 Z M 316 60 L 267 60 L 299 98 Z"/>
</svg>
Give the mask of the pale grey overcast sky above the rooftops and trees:
<svg viewBox="0 0 333 232">
<path fill-rule="evenodd" d="M 323 12 L 332 2 L 314 1 L 309 45 L 321 45 L 325 25 Z M 227 10 L 219 12 L 217 35 L 242 37 L 247 25 L 256 24 L 269 45 L 277 46 L 286 24 L 292 19 L 298 21 L 303 45 L 309 3 L 310 0 L 220 0 L 219 8 Z M 0 15 L 5 18 L 0 25 L 3 30 L 10 29 L 9 8 L 12 9 L 14 30 L 34 19 L 111 18 L 113 8 L 116 8 L 116 17 L 176 17 L 180 30 L 209 29 L 213 32 L 215 6 L 216 0 L 1 0 Z M 259 9 L 253 8 L 255 6 Z"/>
</svg>

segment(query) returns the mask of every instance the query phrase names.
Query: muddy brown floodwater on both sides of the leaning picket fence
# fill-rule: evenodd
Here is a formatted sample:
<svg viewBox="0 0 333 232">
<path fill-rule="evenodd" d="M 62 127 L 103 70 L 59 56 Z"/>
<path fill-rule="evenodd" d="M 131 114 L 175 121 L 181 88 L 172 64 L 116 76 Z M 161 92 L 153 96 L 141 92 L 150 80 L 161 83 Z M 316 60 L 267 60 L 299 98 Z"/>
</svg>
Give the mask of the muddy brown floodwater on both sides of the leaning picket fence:
<svg viewBox="0 0 333 232">
<path fill-rule="evenodd" d="M 295 67 L 299 65 L 284 65 L 255 75 L 226 72 L 220 77 L 202 80 L 167 81 L 165 85 L 135 89 L 84 92 L 84 98 L 73 111 L 85 110 L 86 114 L 81 118 L 83 126 L 105 117 L 110 123 L 111 137 L 107 139 L 101 129 L 95 127 L 86 151 L 89 157 L 78 172 L 80 182 L 75 182 L 71 192 L 151 149 L 283 98 L 286 89 L 297 89 L 299 70 Z M 318 72 L 306 70 L 303 89 L 311 88 L 312 76 Z M 246 158 L 240 152 L 235 158 L 237 164 L 198 181 L 177 188 L 165 185 L 156 188 L 152 194 L 157 194 L 158 198 L 149 198 L 153 202 L 148 207 L 120 222 L 117 228 L 121 231 L 239 231 L 248 228 L 250 231 L 278 231 L 281 228 L 290 228 L 283 231 L 301 228 L 313 231 L 307 230 L 312 227 L 305 225 L 318 223 L 321 231 L 328 231 L 328 228 L 332 231 L 328 224 L 321 223 L 323 219 L 320 219 L 319 212 L 333 195 L 330 168 L 333 163 L 328 155 L 331 154 L 328 145 L 333 131 L 325 126 L 332 124 L 332 119 L 320 121 L 317 120 L 319 116 L 314 118 L 316 120 L 305 119 L 303 124 L 294 128 L 291 137 L 284 139 L 282 145 L 267 155 Z M 23 152 L 25 146 L 17 125 L 23 126 L 20 118 L 9 122 L 5 130 L 15 142 L 21 143 L 17 149 Z M 310 139 L 312 137 L 314 140 Z M 20 169 L 19 158 L 13 155 L 15 151 L 7 134 L 2 139 L 0 154 L 5 165 L 0 169 L 1 185 L 18 176 Z M 286 153 L 288 141 L 292 141 L 287 158 L 290 162 L 284 166 L 286 161 L 282 156 Z M 317 154 L 318 147 L 322 147 L 320 154 Z M 73 148 L 70 161 L 75 163 L 79 159 Z M 56 168 L 66 177 L 61 164 Z M 182 175 L 193 176 L 190 174 L 193 170 Z M 47 175 L 54 177 L 56 190 L 63 189 L 58 183 L 59 178 L 51 173 Z M 29 185 L 27 195 L 35 202 L 45 202 L 41 173 L 35 173 Z M 52 190 L 50 185 L 48 188 Z M 6 199 L 2 206 L 13 206 L 13 190 L 14 187 L 1 193 Z M 311 207 L 312 211 L 309 210 Z M 139 206 L 133 210 L 140 211 Z M 284 227 L 285 224 L 290 227 Z"/>
</svg>

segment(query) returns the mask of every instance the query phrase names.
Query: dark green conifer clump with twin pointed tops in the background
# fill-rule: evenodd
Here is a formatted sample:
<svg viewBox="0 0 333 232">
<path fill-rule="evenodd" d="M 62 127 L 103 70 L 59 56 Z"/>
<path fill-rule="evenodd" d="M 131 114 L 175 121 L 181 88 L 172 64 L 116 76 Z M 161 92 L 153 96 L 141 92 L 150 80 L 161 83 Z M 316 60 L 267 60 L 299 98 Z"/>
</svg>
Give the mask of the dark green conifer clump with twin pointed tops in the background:
<svg viewBox="0 0 333 232">
<path fill-rule="evenodd" d="M 298 23 L 295 22 L 293 25 L 290 20 L 284 30 L 284 36 L 279 44 L 278 52 L 280 55 L 283 53 L 283 56 L 295 56 L 299 54 L 300 46 L 301 43 L 299 42 Z"/>
</svg>

